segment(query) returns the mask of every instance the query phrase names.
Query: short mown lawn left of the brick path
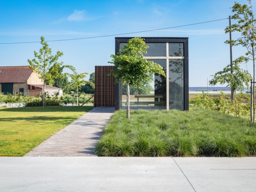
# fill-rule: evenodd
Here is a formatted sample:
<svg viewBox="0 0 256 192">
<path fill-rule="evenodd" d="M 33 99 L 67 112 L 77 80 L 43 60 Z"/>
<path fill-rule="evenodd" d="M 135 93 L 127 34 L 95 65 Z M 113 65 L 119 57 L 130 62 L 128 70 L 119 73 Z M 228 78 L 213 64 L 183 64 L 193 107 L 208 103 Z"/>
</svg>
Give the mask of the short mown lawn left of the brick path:
<svg viewBox="0 0 256 192">
<path fill-rule="evenodd" d="M 23 156 L 92 107 L 0 108 L 0 156 Z"/>
</svg>

